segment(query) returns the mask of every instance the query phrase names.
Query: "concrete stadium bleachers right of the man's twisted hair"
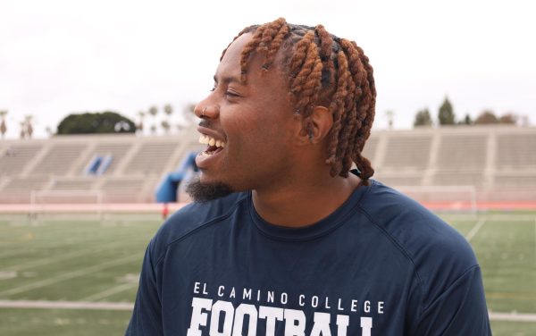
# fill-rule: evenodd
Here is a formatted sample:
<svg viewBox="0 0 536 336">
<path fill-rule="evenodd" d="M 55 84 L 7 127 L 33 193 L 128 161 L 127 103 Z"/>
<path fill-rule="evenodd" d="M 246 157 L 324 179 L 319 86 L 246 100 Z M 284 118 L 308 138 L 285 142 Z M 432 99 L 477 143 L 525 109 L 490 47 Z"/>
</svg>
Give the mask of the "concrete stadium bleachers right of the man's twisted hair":
<svg viewBox="0 0 536 336">
<path fill-rule="evenodd" d="M 390 186 L 472 186 L 480 201 L 536 200 L 536 128 L 373 130 L 371 139 L 374 179 Z"/>
</svg>

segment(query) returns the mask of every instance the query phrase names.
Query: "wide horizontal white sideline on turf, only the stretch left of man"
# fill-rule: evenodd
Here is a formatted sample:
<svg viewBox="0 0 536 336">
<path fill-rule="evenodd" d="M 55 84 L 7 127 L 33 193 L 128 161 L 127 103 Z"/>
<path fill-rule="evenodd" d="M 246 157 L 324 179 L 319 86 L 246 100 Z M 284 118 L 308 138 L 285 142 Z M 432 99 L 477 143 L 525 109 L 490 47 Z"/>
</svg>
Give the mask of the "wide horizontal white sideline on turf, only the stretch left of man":
<svg viewBox="0 0 536 336">
<path fill-rule="evenodd" d="M 130 302 L 0 300 L 0 308 L 95 309 L 131 311 L 133 307 L 134 304 Z"/>
</svg>

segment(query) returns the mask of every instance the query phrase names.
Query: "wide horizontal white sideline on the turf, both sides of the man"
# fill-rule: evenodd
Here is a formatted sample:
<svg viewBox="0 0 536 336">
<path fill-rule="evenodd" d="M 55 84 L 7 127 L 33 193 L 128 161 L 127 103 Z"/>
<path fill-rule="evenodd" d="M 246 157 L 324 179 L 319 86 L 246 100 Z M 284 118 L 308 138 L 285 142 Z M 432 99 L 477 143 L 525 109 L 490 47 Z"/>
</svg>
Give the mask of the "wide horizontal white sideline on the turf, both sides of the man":
<svg viewBox="0 0 536 336">
<path fill-rule="evenodd" d="M 0 300 L 0 308 L 128 310 L 131 302 Z M 489 312 L 492 321 L 536 322 L 536 314 Z"/>
</svg>

